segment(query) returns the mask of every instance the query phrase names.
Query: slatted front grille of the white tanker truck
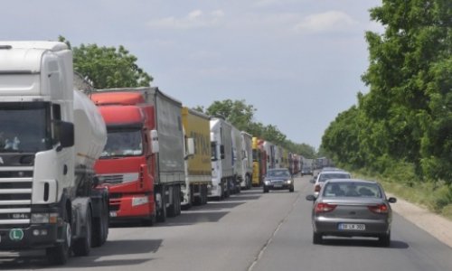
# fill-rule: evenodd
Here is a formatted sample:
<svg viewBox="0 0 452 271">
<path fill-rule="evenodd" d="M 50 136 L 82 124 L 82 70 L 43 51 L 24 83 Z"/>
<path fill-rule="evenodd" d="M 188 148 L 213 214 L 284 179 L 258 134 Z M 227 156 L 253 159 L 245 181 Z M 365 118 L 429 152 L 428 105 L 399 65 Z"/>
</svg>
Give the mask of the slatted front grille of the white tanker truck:
<svg viewBox="0 0 452 271">
<path fill-rule="evenodd" d="M 0 167 L 0 228 L 30 224 L 32 188 L 33 167 Z"/>
</svg>

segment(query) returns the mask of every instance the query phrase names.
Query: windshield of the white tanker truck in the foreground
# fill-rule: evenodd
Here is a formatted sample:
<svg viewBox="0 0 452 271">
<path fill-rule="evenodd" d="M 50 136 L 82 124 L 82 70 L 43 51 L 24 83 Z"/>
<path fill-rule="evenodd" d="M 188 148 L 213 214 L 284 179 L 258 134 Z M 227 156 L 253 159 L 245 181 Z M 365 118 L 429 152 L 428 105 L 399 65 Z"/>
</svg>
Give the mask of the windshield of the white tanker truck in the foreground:
<svg viewBox="0 0 452 271">
<path fill-rule="evenodd" d="M 51 148 L 49 103 L 0 104 L 0 153 L 37 153 Z"/>
</svg>

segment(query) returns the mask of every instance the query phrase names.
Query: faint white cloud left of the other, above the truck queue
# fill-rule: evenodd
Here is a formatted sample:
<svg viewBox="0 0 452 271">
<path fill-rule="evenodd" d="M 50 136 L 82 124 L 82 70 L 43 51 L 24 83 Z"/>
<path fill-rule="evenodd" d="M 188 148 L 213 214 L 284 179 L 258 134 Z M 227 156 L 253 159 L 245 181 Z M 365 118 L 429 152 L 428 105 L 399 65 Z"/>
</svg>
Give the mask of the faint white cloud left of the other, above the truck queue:
<svg viewBox="0 0 452 271">
<path fill-rule="evenodd" d="M 221 23 L 224 13 L 221 10 L 215 10 L 210 13 L 204 13 L 202 10 L 193 10 L 182 18 L 174 16 L 152 20 L 147 26 L 156 29 L 196 29 L 214 27 Z"/>
</svg>

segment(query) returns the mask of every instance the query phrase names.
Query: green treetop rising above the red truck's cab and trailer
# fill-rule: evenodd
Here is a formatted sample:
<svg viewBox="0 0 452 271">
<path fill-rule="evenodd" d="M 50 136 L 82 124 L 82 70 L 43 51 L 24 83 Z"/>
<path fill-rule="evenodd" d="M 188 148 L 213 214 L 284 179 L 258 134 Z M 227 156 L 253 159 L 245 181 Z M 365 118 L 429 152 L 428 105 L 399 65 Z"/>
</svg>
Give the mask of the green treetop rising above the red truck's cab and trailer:
<svg viewBox="0 0 452 271">
<path fill-rule="evenodd" d="M 61 42 L 71 43 L 60 36 Z M 137 65 L 137 57 L 122 45 L 115 47 L 80 44 L 71 47 L 74 70 L 93 83 L 95 89 L 148 87 L 153 78 Z"/>
</svg>

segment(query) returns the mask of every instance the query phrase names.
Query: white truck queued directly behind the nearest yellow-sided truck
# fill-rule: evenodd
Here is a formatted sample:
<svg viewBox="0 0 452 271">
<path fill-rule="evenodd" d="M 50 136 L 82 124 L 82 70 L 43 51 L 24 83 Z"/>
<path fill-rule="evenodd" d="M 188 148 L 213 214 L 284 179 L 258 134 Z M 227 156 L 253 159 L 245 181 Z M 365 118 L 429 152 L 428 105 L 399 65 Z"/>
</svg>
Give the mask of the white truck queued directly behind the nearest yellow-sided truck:
<svg viewBox="0 0 452 271">
<path fill-rule="evenodd" d="M 224 199 L 231 195 L 234 178 L 232 125 L 222 117 L 211 118 L 212 185 L 209 197 Z"/>
</svg>

